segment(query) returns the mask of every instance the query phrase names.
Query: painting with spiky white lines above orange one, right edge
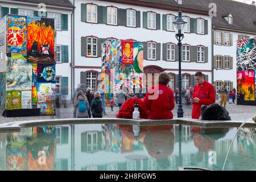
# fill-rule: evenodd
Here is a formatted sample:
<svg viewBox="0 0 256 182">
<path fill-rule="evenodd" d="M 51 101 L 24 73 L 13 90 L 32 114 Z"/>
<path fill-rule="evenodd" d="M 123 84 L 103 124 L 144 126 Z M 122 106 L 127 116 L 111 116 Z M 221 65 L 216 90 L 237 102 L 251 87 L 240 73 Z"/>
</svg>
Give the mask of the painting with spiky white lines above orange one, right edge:
<svg viewBox="0 0 256 182">
<path fill-rule="evenodd" d="M 254 70 L 256 68 L 255 39 L 239 40 L 237 44 L 238 71 Z"/>
</svg>

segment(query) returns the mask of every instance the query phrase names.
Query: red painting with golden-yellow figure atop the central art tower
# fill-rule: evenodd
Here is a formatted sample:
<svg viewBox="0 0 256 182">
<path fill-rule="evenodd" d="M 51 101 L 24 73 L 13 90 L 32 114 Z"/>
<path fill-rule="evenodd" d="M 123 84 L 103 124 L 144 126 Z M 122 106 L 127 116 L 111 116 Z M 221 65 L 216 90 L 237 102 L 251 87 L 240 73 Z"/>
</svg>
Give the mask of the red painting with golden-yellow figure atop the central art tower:
<svg viewBox="0 0 256 182">
<path fill-rule="evenodd" d="M 133 42 L 122 41 L 122 64 L 133 63 Z"/>
</svg>

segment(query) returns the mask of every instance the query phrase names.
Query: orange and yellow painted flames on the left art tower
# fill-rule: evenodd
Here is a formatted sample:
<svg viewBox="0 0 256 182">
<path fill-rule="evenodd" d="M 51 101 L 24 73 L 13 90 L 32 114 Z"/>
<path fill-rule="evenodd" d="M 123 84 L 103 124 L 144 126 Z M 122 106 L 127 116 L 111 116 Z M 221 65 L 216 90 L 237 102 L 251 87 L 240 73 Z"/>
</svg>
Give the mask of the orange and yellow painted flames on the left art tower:
<svg viewBox="0 0 256 182">
<path fill-rule="evenodd" d="M 46 27 L 45 23 L 32 22 L 27 27 L 27 49 L 31 52 L 33 43 L 38 42 L 38 50 L 41 50 L 41 45 L 49 45 L 51 53 L 54 52 L 54 30 L 52 26 Z M 39 51 L 41 53 L 41 51 Z"/>
</svg>

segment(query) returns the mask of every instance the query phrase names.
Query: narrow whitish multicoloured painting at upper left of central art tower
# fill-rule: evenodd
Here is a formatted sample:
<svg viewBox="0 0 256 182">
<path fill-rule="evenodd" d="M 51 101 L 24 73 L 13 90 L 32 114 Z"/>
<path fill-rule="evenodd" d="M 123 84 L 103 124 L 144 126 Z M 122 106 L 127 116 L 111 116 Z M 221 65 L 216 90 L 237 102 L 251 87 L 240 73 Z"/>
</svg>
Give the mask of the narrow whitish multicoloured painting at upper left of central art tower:
<svg viewBox="0 0 256 182">
<path fill-rule="evenodd" d="M 109 40 L 105 41 L 101 44 L 102 49 L 102 70 L 111 69 L 111 59 L 110 59 L 110 49 L 111 49 L 111 42 Z"/>
</svg>

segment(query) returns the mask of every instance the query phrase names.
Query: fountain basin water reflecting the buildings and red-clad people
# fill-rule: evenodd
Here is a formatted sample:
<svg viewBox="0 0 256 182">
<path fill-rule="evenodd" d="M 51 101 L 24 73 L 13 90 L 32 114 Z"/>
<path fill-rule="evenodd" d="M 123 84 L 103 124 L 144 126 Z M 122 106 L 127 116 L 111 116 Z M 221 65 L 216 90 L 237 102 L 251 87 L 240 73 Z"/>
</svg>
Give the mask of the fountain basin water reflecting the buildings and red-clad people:
<svg viewBox="0 0 256 182">
<path fill-rule="evenodd" d="M 31 127 L 0 133 L 0 170 L 220 170 L 236 131 L 185 125 Z M 256 169 L 255 133 L 238 133 L 226 169 Z"/>
</svg>

